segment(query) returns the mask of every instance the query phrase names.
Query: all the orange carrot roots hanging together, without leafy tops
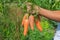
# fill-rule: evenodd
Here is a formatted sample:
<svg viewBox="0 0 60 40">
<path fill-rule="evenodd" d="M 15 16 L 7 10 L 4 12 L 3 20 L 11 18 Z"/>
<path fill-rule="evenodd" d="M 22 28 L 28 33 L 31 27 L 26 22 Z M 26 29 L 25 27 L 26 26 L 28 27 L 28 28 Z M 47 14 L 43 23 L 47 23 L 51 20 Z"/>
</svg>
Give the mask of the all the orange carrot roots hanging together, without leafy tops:
<svg viewBox="0 0 60 40">
<path fill-rule="evenodd" d="M 34 30 L 34 23 L 36 24 L 37 29 L 42 31 L 39 18 L 35 19 L 34 15 L 29 15 L 29 14 L 24 15 L 22 20 L 22 25 L 24 26 L 24 32 L 23 32 L 24 36 L 27 35 L 29 25 L 31 27 L 31 30 Z"/>
</svg>

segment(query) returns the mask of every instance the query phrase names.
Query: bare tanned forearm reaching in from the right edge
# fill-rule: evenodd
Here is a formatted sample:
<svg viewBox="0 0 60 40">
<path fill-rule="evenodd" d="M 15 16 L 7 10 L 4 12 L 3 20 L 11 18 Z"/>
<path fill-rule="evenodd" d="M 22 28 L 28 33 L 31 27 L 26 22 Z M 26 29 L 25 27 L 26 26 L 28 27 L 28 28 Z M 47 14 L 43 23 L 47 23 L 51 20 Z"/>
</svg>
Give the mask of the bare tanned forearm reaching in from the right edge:
<svg viewBox="0 0 60 40">
<path fill-rule="evenodd" d="M 39 10 L 39 14 L 49 18 L 49 19 L 52 19 L 52 20 L 55 20 L 55 21 L 60 21 L 60 11 L 50 11 L 50 10 L 46 10 L 46 9 L 43 9 L 43 8 L 40 8 Z"/>
</svg>

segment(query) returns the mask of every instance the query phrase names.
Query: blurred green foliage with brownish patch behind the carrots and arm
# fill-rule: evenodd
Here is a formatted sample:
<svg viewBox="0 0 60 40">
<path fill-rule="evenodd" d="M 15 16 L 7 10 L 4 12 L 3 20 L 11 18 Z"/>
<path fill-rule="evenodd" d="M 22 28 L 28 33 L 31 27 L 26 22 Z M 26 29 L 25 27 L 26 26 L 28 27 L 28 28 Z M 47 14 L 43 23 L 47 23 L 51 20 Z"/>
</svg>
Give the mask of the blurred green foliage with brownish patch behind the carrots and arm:
<svg viewBox="0 0 60 40">
<path fill-rule="evenodd" d="M 24 37 L 21 21 L 26 13 L 25 2 L 48 10 L 60 10 L 60 0 L 0 0 L 0 40 L 52 40 L 57 22 L 43 16 L 43 32 L 34 25 L 34 31 L 29 28 L 28 34 Z"/>
</svg>

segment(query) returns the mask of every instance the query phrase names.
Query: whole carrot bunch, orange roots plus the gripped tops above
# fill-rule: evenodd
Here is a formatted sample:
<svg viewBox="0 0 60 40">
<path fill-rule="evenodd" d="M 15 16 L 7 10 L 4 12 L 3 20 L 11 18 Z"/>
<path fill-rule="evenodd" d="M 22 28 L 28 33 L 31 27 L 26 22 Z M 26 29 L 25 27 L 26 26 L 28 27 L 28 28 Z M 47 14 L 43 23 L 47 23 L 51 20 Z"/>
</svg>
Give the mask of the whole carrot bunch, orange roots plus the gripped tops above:
<svg viewBox="0 0 60 40">
<path fill-rule="evenodd" d="M 24 15 L 22 20 L 22 26 L 24 26 L 24 36 L 28 33 L 28 26 L 30 26 L 31 30 L 34 30 L 34 24 L 36 24 L 36 27 L 39 31 L 42 32 L 42 27 L 40 24 L 40 15 L 34 10 L 34 5 L 31 3 L 26 3 L 27 6 L 27 13 Z"/>
</svg>

